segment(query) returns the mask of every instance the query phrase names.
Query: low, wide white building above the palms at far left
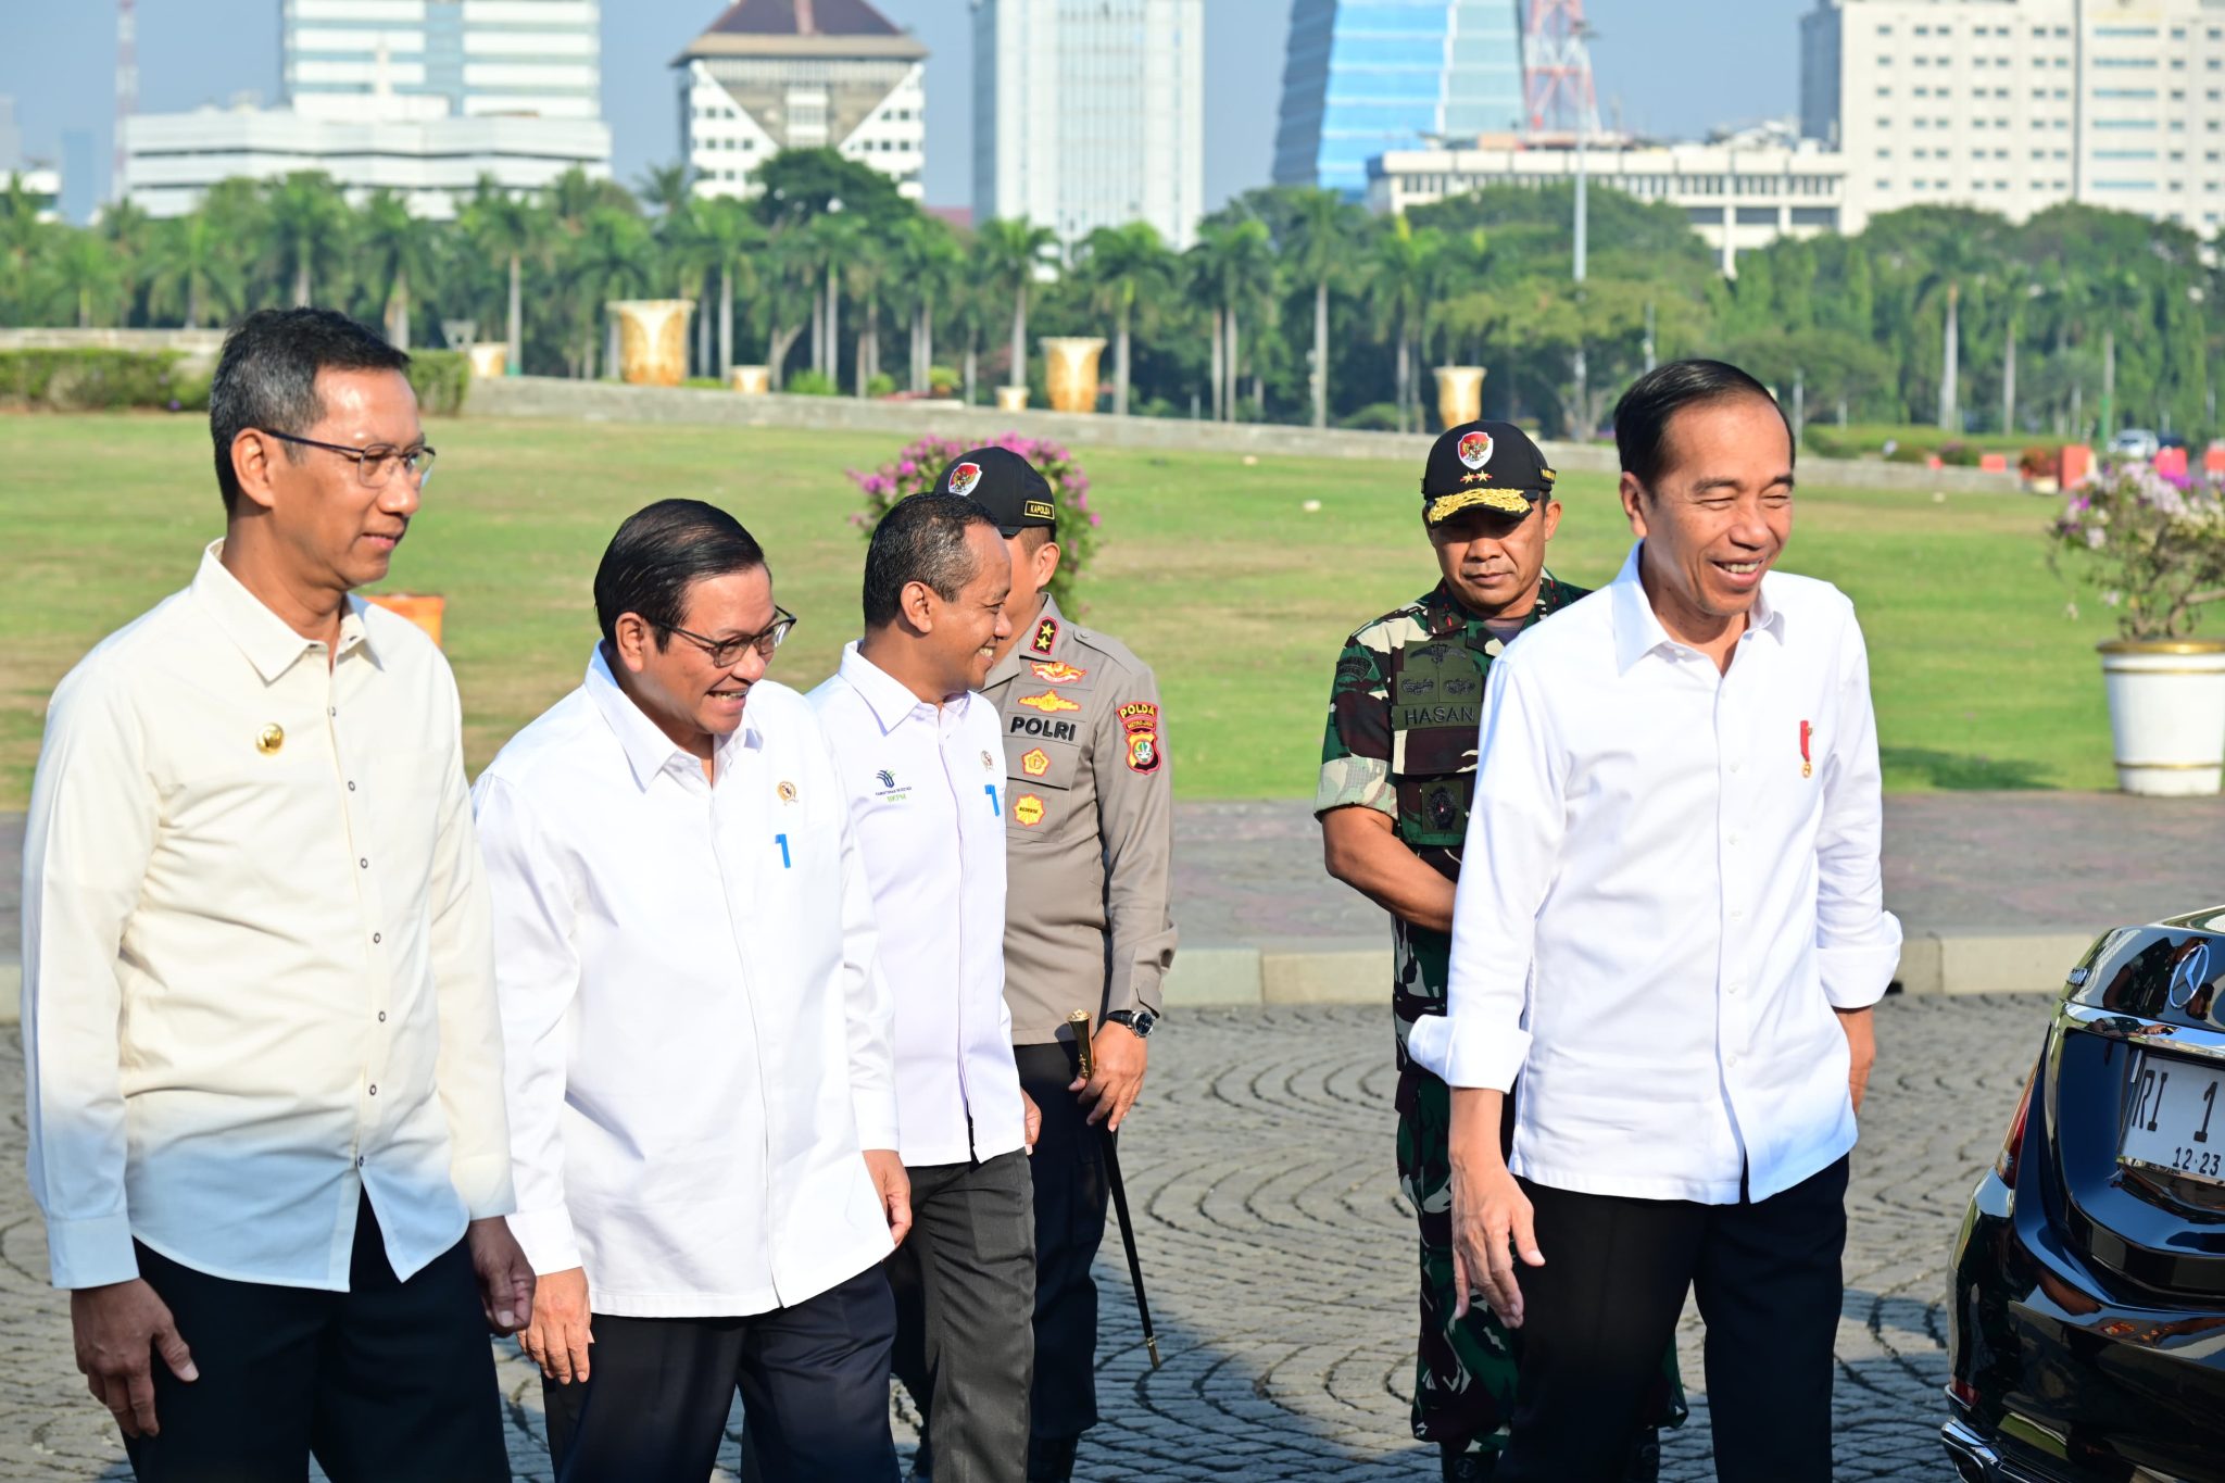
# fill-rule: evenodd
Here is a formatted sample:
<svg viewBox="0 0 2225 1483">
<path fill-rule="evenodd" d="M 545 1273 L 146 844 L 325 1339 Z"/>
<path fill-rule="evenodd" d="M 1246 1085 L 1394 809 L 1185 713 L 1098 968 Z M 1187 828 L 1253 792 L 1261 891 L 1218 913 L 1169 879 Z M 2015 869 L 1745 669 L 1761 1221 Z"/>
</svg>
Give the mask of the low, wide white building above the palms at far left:
<svg viewBox="0 0 2225 1483">
<path fill-rule="evenodd" d="M 194 109 L 125 120 L 125 193 L 147 216 L 182 216 L 218 180 L 323 171 L 356 205 L 398 191 L 445 220 L 492 176 L 536 193 L 570 169 L 610 176 L 599 118 L 314 118 L 291 109 Z"/>
</svg>

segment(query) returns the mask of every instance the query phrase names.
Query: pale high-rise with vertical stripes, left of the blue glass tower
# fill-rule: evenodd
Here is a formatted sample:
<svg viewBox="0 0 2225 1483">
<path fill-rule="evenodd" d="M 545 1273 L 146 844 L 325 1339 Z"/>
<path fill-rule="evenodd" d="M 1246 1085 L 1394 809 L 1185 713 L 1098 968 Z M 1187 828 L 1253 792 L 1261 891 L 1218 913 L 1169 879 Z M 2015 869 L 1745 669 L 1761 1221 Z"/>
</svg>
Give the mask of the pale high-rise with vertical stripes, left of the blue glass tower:
<svg viewBox="0 0 2225 1483">
<path fill-rule="evenodd" d="M 977 222 L 1079 242 L 1206 209 L 1206 0 L 972 0 Z"/>
</svg>

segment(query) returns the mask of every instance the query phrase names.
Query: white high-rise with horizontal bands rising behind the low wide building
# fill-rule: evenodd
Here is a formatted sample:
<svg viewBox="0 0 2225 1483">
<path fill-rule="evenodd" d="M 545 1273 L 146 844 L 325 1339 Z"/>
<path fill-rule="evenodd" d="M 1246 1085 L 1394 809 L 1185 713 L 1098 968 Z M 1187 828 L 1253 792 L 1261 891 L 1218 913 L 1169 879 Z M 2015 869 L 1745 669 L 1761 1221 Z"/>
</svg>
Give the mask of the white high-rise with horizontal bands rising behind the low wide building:
<svg viewBox="0 0 2225 1483">
<path fill-rule="evenodd" d="M 283 0 L 303 118 L 603 116 L 599 0 Z"/>
</svg>

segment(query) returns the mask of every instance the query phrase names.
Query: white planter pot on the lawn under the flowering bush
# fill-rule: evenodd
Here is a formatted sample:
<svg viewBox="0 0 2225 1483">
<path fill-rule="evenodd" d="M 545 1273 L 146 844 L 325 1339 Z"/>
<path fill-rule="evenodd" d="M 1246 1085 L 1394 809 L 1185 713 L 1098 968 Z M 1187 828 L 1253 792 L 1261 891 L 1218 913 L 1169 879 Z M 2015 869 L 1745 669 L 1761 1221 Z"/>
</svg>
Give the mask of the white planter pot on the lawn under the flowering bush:
<svg viewBox="0 0 2225 1483">
<path fill-rule="evenodd" d="M 2116 638 L 2100 649 L 2116 785 L 2127 794 L 2218 792 L 2225 776 L 2225 638 Z"/>
</svg>

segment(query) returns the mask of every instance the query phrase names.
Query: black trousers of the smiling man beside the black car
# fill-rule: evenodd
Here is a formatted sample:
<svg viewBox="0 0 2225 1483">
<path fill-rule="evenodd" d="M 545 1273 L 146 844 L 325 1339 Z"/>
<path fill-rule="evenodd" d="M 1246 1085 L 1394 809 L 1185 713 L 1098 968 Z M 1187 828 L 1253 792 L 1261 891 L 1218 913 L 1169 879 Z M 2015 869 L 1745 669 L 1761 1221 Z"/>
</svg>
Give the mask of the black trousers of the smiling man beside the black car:
<svg viewBox="0 0 2225 1483">
<path fill-rule="evenodd" d="M 1707 1321 L 1722 1483 L 1831 1481 L 1831 1341 L 1847 1161 L 1738 1205 L 1573 1194 L 1522 1181 L 1542 1267 L 1517 1267 L 1522 1372 L 1497 1483 L 1611 1483 L 1684 1294 Z"/>
</svg>

